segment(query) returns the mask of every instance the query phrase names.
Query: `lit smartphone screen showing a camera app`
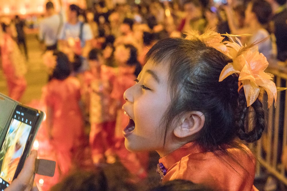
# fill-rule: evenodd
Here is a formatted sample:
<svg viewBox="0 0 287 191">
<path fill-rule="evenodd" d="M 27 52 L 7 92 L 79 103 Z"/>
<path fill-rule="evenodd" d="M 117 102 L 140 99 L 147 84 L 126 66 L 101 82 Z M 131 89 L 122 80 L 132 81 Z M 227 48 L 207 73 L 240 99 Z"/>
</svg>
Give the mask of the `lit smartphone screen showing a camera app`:
<svg viewBox="0 0 287 191">
<path fill-rule="evenodd" d="M 25 116 L 25 113 L 17 110 L 14 112 L 0 150 L 0 185 L 12 182 L 30 134 L 31 125 L 32 121 Z"/>
</svg>

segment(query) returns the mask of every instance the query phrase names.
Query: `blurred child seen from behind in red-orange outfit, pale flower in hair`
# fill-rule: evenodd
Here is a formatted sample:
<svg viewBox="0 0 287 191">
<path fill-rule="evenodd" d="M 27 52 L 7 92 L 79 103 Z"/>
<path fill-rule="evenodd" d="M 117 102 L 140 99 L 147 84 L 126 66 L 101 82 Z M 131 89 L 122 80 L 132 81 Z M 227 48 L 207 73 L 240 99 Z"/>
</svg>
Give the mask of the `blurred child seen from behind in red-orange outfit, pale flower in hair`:
<svg viewBox="0 0 287 191">
<path fill-rule="evenodd" d="M 73 153 L 77 151 L 83 135 L 80 83 L 70 76 L 71 65 L 63 52 L 47 51 L 44 64 L 50 74 L 42 93 L 47 107 L 46 127 L 63 175 L 71 169 Z"/>
</svg>

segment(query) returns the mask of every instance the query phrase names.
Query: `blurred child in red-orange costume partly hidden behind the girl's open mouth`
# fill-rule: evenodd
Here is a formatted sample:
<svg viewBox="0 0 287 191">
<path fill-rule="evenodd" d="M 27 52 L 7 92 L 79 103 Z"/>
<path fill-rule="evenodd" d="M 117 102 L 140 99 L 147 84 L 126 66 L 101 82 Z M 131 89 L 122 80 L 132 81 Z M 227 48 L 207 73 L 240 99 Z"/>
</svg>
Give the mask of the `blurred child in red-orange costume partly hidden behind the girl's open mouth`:
<svg viewBox="0 0 287 191">
<path fill-rule="evenodd" d="M 115 129 L 115 152 L 119 157 L 121 163 L 135 176 L 135 178 L 145 178 L 146 170 L 145 165 L 142 165 L 142 161 L 139 160 L 136 153 L 129 152 L 124 146 L 123 129 L 129 122 L 129 117 L 123 113 L 121 110 L 125 100 L 123 99 L 123 93 L 125 90 L 135 83 L 136 78 L 136 65 L 129 62 L 133 56 L 137 58 L 137 55 L 131 54 L 133 51 L 133 46 L 131 45 L 118 45 L 115 49 L 115 61 L 118 64 L 118 73 L 113 84 L 113 90 L 111 93 L 111 98 L 113 99 L 113 105 L 111 107 L 110 113 L 116 112 L 116 129 Z M 139 65 L 140 66 L 140 65 Z M 142 157 L 143 161 L 147 161 L 148 153 Z M 145 163 L 145 162 L 144 162 Z"/>
</svg>

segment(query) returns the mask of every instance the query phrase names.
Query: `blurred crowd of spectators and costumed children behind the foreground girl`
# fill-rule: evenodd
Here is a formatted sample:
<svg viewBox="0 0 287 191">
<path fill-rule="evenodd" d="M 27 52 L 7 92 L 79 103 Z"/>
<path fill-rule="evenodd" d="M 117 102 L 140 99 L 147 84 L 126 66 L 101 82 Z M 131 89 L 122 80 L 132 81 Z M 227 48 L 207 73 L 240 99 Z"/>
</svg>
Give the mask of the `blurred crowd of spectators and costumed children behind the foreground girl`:
<svg viewBox="0 0 287 191">
<path fill-rule="evenodd" d="M 37 35 L 49 74 L 38 105 L 46 112 L 38 141 L 57 161 L 57 181 L 82 162 L 87 146 L 93 164 L 119 161 L 134 182 L 147 177 L 149 153 L 125 149 L 129 117 L 121 107 L 157 41 L 212 29 L 241 35 L 243 44 L 260 42 L 270 64 L 287 60 L 286 0 L 100 0 L 89 9 L 57 3 L 60 11 L 46 3 Z M 19 16 L 1 18 L 1 68 L 9 96 L 18 101 L 27 86 L 25 60 L 32 59 L 25 25 Z"/>
</svg>

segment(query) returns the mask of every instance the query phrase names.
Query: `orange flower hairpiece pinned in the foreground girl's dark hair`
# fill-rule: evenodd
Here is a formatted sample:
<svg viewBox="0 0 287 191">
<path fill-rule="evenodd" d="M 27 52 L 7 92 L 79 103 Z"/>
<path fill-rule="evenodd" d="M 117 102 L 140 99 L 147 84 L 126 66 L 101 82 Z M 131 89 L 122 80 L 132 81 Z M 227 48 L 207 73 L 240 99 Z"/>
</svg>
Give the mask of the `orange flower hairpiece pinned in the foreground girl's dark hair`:
<svg viewBox="0 0 287 191">
<path fill-rule="evenodd" d="M 190 33 L 189 33 L 190 34 Z M 222 70 L 219 81 L 221 82 L 227 76 L 231 74 L 238 74 L 238 91 L 244 89 L 247 107 L 252 105 L 257 99 L 259 92 L 265 90 L 268 95 L 268 108 L 272 105 L 273 99 L 276 107 L 277 88 L 272 81 L 273 75 L 265 73 L 264 70 L 268 66 L 266 57 L 258 52 L 258 47 L 254 44 L 247 46 L 242 45 L 240 40 L 235 35 L 223 34 L 230 38 L 231 42 L 224 41 L 221 34 L 208 30 L 205 34 L 198 35 L 192 32 L 192 36 L 187 36 L 186 39 L 197 38 L 205 42 L 208 46 L 211 46 L 222 52 L 226 56 L 232 59 L 231 63 L 228 63 Z M 238 36 L 250 36 L 248 34 Z M 235 37 L 235 40 L 232 38 Z"/>
</svg>

